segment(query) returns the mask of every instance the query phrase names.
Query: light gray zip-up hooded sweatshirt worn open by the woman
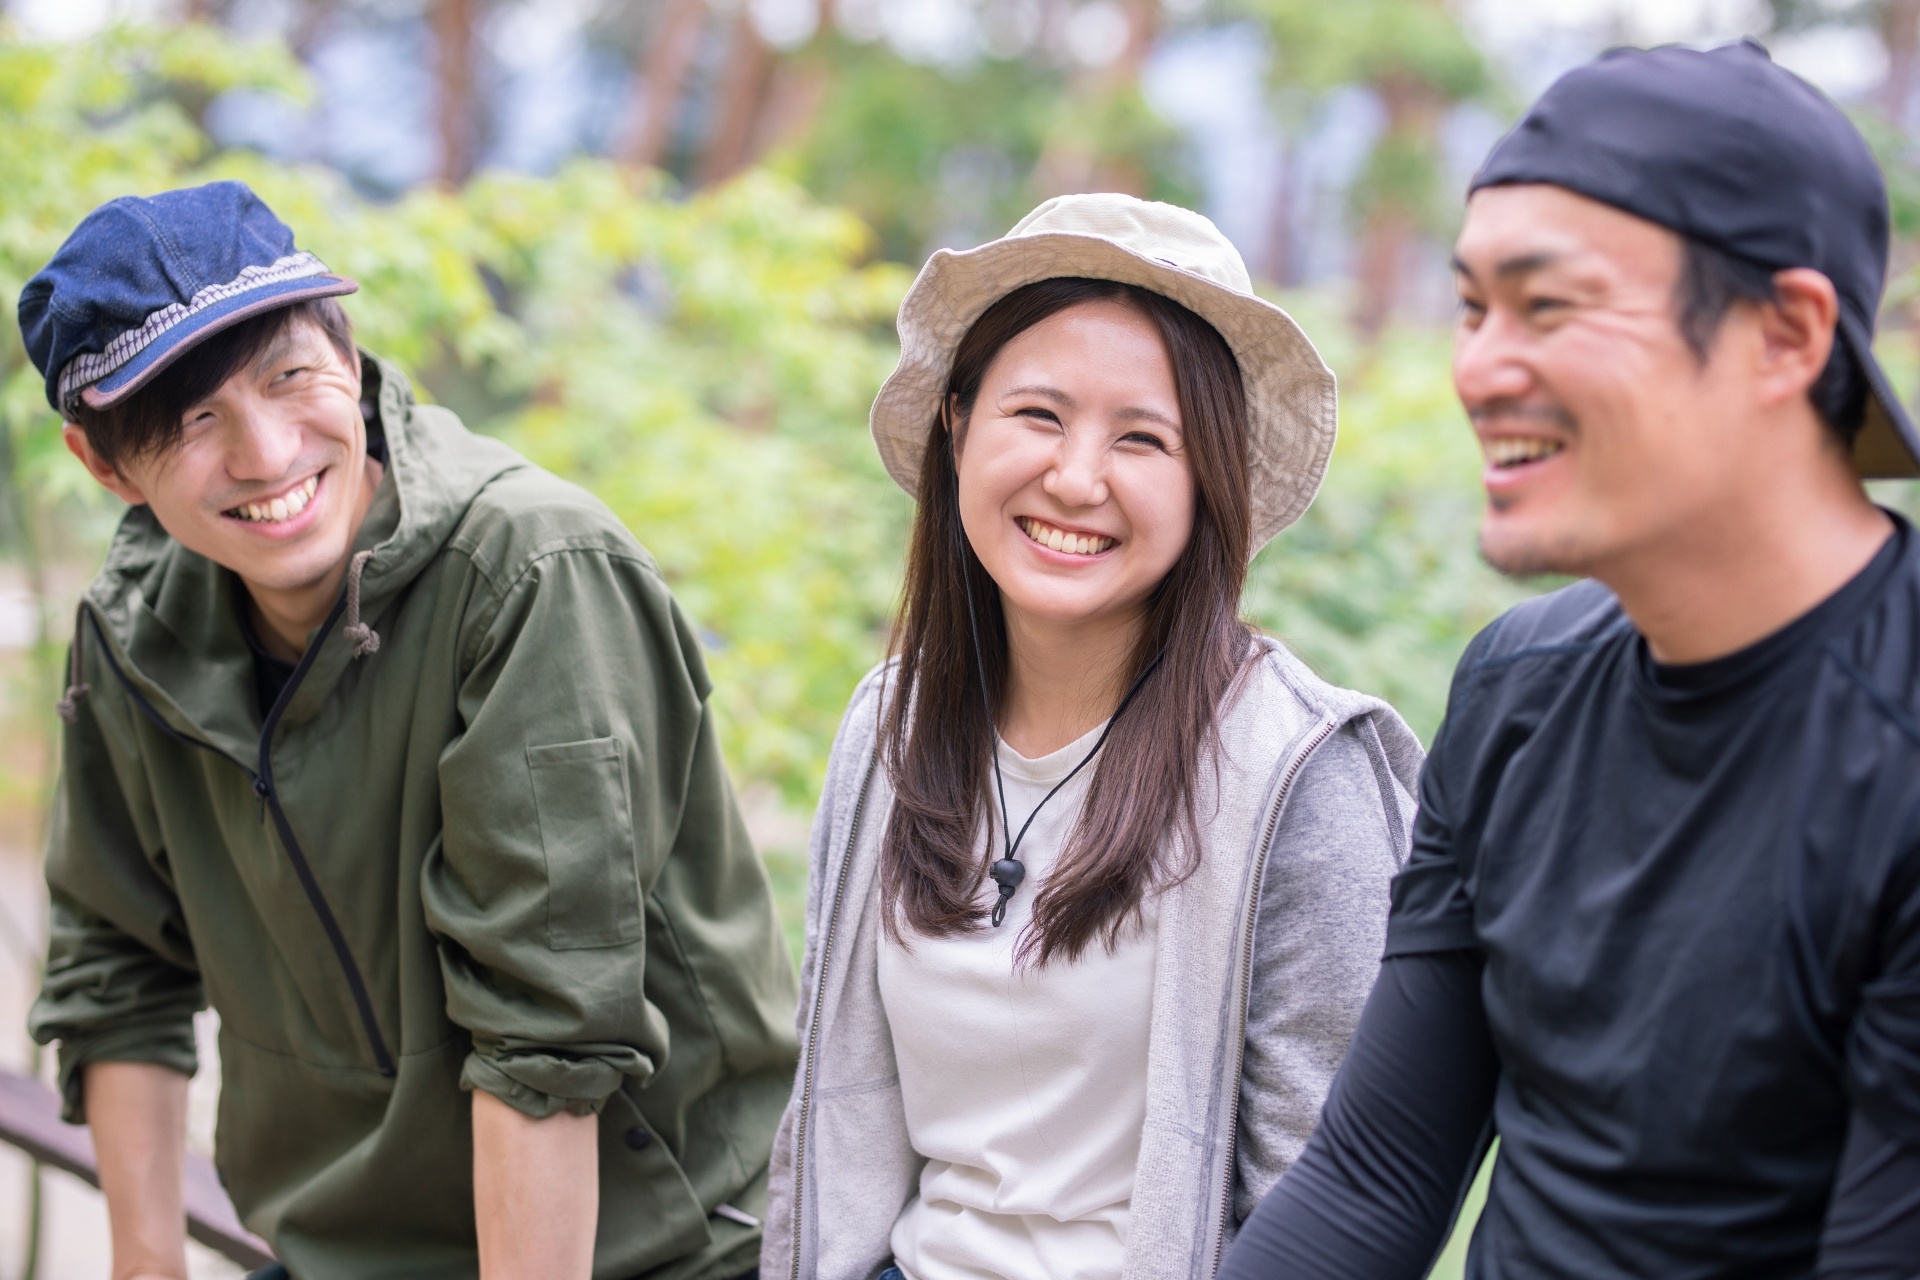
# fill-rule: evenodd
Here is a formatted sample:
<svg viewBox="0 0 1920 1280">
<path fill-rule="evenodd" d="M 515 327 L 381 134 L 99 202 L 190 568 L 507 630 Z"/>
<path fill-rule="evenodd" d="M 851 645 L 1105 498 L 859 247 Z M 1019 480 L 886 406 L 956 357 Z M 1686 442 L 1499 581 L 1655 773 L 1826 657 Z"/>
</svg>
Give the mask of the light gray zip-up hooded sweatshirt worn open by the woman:
<svg viewBox="0 0 1920 1280">
<path fill-rule="evenodd" d="M 876 1276 L 925 1163 L 877 979 L 885 676 L 854 691 L 814 818 L 801 1067 L 774 1144 L 766 1280 Z M 1125 1280 L 1212 1276 L 1300 1155 L 1379 971 L 1407 852 L 1421 747 L 1379 699 L 1263 639 L 1219 741 L 1219 768 L 1200 770 L 1196 871 L 1160 906 Z"/>
</svg>

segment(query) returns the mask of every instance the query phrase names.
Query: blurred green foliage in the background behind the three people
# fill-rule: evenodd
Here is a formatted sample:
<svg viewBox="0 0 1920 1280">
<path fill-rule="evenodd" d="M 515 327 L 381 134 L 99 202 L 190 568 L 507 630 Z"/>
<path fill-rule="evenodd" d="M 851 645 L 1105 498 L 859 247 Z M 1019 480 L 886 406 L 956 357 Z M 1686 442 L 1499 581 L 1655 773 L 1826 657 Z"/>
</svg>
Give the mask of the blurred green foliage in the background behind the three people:
<svg viewBox="0 0 1920 1280">
<path fill-rule="evenodd" d="M 1279 106 L 1350 83 L 1411 84 L 1436 102 L 1500 96 L 1427 0 L 1219 8 L 1273 38 Z M 803 58 L 824 84 L 806 136 L 697 196 L 576 159 L 549 178 L 488 173 L 372 203 L 330 171 L 221 152 L 200 127 L 227 90 L 311 96 L 278 44 L 198 25 L 33 44 L 0 19 L 0 297 L 17 297 L 106 200 L 244 178 L 303 248 L 361 282 L 348 307 L 363 345 L 476 430 L 595 491 L 653 551 L 707 643 L 737 781 L 804 818 L 897 603 L 912 512 L 879 468 L 866 409 L 897 355 L 902 263 L 956 219 L 979 234 L 1012 225 L 1054 146 L 1135 163 L 1158 198 L 1188 192 L 1177 138 L 1137 86 L 1079 92 L 1064 69 L 1021 59 L 935 73 L 839 38 Z M 1914 148 L 1878 121 L 1862 129 L 1910 240 Z M 1434 155 L 1396 148 L 1388 136 L 1369 154 L 1356 215 L 1384 201 L 1425 223 L 1438 209 Z M 970 159 L 945 169 L 954 155 Z M 1903 273 L 1889 307 L 1910 313 L 1916 282 Z M 1430 739 L 1465 643 L 1544 583 L 1501 580 L 1475 553 L 1480 459 L 1448 380 L 1448 334 L 1388 328 L 1361 344 L 1340 299 L 1277 301 L 1340 378 L 1340 438 L 1319 501 L 1252 564 L 1244 610 Z M 1899 386 L 1920 372 L 1910 330 L 1884 357 Z M 1920 510 L 1912 486 L 1878 495 Z M 25 570 L 46 618 L 27 670 L 4 672 L 0 842 L 35 839 L 65 604 L 117 516 L 60 447 L 17 328 L 0 326 L 0 560 Z M 804 864 L 778 841 L 764 852 L 797 948 Z M 1484 1173 L 1467 1226 L 1482 1197 Z M 1459 1276 L 1463 1259 L 1465 1228 L 1434 1276 Z"/>
</svg>

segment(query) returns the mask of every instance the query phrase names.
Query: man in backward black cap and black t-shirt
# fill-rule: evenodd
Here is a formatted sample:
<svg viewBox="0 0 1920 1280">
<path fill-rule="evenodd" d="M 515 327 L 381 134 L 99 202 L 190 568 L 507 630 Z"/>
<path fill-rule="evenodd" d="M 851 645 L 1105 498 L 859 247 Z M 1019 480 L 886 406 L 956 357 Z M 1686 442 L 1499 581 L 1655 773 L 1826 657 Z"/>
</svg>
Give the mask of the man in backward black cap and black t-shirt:
<svg viewBox="0 0 1920 1280">
<path fill-rule="evenodd" d="M 1475 178 L 1482 551 L 1386 961 L 1231 1280 L 1920 1274 L 1920 474 L 1887 196 L 1757 44 L 1620 50 Z"/>
</svg>

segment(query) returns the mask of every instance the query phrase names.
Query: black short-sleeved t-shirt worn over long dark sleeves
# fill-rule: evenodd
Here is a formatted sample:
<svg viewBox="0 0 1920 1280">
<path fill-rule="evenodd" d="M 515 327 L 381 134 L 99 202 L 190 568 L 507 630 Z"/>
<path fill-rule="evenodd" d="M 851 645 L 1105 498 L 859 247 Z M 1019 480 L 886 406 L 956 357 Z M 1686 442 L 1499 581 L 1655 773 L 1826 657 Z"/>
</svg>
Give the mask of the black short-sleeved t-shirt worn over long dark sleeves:
<svg viewBox="0 0 1920 1280">
<path fill-rule="evenodd" d="M 1386 954 L 1473 950 L 1501 1274 L 1809 1274 L 1849 1105 L 1920 1144 L 1920 539 L 1728 658 L 1580 583 L 1488 628 Z"/>
</svg>

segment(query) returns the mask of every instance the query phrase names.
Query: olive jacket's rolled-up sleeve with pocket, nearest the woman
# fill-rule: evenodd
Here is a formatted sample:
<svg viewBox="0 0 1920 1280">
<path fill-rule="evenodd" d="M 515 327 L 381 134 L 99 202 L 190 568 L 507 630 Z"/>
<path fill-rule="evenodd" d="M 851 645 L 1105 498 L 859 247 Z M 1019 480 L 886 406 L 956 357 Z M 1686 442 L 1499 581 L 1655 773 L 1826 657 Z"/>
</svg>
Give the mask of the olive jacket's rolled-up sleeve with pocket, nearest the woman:
<svg viewBox="0 0 1920 1280">
<path fill-rule="evenodd" d="M 634 555 L 536 557 L 480 610 L 422 867 L 461 1082 L 526 1115 L 593 1113 L 664 1063 L 649 894 L 705 727 L 705 672 Z"/>
</svg>

